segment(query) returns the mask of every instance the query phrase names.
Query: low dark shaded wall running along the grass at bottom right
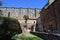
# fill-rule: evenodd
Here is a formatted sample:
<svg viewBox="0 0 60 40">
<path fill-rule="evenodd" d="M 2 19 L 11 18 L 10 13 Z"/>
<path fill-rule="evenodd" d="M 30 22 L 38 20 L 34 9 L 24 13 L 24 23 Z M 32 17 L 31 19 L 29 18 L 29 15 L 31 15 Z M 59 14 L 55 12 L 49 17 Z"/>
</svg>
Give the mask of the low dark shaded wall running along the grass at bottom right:
<svg viewBox="0 0 60 40">
<path fill-rule="evenodd" d="M 49 33 L 37 33 L 37 32 L 30 32 L 33 35 L 36 35 L 44 40 L 60 40 L 60 36 L 49 34 Z"/>
</svg>

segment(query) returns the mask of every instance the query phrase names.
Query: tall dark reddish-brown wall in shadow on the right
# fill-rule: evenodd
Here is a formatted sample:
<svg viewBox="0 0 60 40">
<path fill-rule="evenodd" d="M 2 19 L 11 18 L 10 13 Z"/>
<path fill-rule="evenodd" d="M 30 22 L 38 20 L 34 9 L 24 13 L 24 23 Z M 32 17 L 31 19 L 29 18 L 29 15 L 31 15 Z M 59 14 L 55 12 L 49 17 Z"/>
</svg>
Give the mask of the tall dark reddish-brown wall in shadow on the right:
<svg viewBox="0 0 60 40">
<path fill-rule="evenodd" d="M 50 30 L 53 33 L 60 32 L 60 0 L 56 0 L 49 7 L 43 8 L 40 12 L 44 31 Z M 59 32 L 58 32 L 59 31 Z"/>
</svg>

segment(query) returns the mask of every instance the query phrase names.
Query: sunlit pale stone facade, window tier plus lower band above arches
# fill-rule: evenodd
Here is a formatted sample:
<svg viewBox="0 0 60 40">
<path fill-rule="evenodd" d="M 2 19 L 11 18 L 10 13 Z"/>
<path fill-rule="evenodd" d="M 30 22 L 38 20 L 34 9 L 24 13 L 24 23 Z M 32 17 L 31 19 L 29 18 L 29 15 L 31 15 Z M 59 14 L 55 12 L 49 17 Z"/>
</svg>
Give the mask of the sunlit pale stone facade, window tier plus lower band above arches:
<svg viewBox="0 0 60 40">
<path fill-rule="evenodd" d="M 36 25 L 36 19 L 40 16 L 39 12 L 41 10 L 38 8 L 7 8 L 7 7 L 0 7 L 0 14 L 3 17 L 10 17 L 17 19 L 21 26 L 25 25 L 25 20 L 23 18 L 24 15 L 27 15 L 29 17 L 29 20 L 27 21 L 28 28 L 33 25 Z M 29 28 L 29 29 L 30 29 Z M 22 28 L 23 29 L 23 28 Z"/>
</svg>

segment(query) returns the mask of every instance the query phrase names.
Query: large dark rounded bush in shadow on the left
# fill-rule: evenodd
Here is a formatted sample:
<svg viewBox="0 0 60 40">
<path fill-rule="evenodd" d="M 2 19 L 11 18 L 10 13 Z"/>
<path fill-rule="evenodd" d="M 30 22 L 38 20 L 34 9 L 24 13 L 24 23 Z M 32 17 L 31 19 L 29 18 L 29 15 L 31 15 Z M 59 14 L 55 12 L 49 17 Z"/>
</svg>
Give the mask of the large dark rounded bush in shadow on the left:
<svg viewBox="0 0 60 40">
<path fill-rule="evenodd" d="M 22 33 L 20 23 L 13 18 L 0 17 L 0 39 L 10 40 L 15 34 Z"/>
</svg>

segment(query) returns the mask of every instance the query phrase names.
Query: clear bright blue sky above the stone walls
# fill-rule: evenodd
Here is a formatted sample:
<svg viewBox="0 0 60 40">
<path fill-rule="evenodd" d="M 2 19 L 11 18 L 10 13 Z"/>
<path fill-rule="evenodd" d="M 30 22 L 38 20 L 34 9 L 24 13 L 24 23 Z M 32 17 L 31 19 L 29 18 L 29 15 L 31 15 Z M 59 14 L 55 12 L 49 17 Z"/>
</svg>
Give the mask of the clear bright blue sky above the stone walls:
<svg viewBox="0 0 60 40">
<path fill-rule="evenodd" d="M 42 9 L 48 0 L 0 0 L 3 7 L 22 7 L 22 8 L 40 8 Z"/>
</svg>

